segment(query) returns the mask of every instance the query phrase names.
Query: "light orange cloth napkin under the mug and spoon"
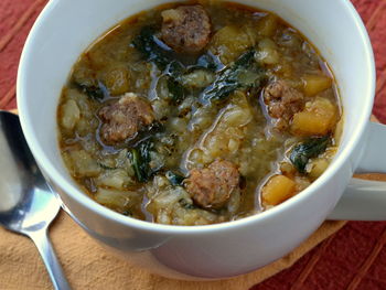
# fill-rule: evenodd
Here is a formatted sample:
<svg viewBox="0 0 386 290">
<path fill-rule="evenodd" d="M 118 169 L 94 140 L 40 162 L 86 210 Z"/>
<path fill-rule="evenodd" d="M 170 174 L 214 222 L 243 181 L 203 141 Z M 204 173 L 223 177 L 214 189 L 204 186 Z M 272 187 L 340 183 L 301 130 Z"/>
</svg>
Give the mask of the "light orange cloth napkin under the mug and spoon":
<svg viewBox="0 0 386 290">
<path fill-rule="evenodd" d="M 386 180 L 366 174 L 366 179 Z M 68 215 L 61 212 L 50 236 L 73 289 L 130 290 L 247 290 L 292 266 L 304 254 L 343 227 L 345 222 L 323 225 L 286 257 L 254 272 L 211 282 L 178 281 L 159 277 L 121 260 L 92 239 Z M 33 243 L 0 227 L 0 289 L 52 289 L 50 278 Z"/>
</svg>

